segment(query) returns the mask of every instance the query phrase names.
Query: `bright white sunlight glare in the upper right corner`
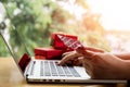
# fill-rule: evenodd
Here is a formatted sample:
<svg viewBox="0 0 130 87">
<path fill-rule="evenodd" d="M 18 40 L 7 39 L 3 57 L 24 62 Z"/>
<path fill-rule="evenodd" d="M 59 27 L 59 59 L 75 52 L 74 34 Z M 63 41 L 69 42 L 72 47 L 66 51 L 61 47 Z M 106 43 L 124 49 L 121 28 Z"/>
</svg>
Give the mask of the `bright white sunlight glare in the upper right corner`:
<svg viewBox="0 0 130 87">
<path fill-rule="evenodd" d="M 102 14 L 105 29 L 130 30 L 129 0 L 87 0 L 92 12 Z"/>
</svg>

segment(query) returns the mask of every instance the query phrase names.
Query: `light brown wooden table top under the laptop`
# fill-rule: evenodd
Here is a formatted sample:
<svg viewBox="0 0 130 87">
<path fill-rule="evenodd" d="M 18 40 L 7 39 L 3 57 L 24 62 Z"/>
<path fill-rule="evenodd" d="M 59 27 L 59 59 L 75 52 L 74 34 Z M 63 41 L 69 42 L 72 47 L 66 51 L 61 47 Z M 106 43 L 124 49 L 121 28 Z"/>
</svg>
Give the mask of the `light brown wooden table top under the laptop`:
<svg viewBox="0 0 130 87">
<path fill-rule="evenodd" d="M 126 85 L 27 84 L 12 58 L 0 58 L 0 87 L 126 87 Z"/>
</svg>

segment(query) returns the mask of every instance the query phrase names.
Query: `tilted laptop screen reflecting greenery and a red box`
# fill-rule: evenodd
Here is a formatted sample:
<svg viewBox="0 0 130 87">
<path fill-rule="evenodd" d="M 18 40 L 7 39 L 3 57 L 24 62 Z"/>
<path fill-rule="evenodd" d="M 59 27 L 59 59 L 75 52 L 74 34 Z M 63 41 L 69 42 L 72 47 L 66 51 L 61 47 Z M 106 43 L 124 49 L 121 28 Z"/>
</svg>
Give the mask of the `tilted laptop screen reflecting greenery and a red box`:
<svg viewBox="0 0 130 87">
<path fill-rule="evenodd" d="M 3 41 L 5 42 L 10 53 L 12 54 L 17 65 L 20 65 L 22 71 L 24 71 L 25 66 L 22 67 L 20 63 L 22 63 L 23 62 L 22 59 L 28 55 L 29 53 L 23 42 L 22 36 L 20 35 L 20 33 L 16 30 L 16 28 L 13 25 L 11 26 L 10 29 L 9 28 L 0 29 L 0 35 L 3 38 Z"/>
</svg>

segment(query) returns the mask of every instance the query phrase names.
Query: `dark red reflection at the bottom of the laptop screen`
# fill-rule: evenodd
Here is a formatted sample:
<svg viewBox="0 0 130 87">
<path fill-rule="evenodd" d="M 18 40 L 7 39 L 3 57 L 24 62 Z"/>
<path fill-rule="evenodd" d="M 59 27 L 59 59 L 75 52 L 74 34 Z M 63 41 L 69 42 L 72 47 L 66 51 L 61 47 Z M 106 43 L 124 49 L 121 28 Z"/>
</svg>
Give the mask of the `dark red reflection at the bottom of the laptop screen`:
<svg viewBox="0 0 130 87">
<path fill-rule="evenodd" d="M 24 53 L 24 55 L 22 57 L 22 59 L 21 59 L 20 62 L 18 62 L 18 65 L 20 65 L 20 67 L 21 67 L 21 70 L 22 70 L 22 72 L 25 71 L 25 69 L 26 69 L 26 66 L 27 66 L 27 64 L 28 64 L 29 62 L 30 62 L 29 55 L 28 55 L 27 53 Z"/>
</svg>

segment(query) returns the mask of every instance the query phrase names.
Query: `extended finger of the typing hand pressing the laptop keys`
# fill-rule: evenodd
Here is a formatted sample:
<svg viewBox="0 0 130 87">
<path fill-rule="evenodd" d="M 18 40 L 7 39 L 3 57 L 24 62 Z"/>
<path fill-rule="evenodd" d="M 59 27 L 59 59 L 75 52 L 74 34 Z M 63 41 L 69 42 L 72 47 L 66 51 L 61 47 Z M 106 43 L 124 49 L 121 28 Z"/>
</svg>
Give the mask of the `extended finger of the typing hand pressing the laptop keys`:
<svg viewBox="0 0 130 87">
<path fill-rule="evenodd" d="M 63 64 L 67 63 L 67 61 L 74 60 L 74 59 L 76 59 L 76 58 L 78 58 L 78 55 L 77 55 L 76 52 L 69 53 L 69 54 L 65 55 L 65 57 L 58 62 L 58 64 L 60 64 L 60 65 L 63 65 Z"/>
</svg>

